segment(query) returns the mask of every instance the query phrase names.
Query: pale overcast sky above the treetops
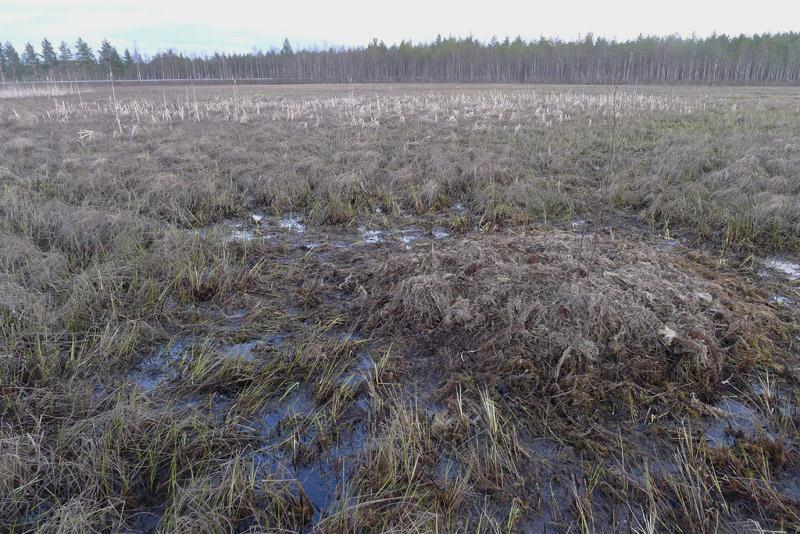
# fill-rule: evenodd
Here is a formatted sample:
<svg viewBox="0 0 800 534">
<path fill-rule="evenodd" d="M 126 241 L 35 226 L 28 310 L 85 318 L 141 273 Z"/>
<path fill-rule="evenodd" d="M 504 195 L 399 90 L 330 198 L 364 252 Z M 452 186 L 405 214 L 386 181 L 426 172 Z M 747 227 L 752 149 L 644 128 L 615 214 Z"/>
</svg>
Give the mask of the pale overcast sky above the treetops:
<svg viewBox="0 0 800 534">
<path fill-rule="evenodd" d="M 437 34 L 481 40 L 521 35 L 624 40 L 800 30 L 800 0 L 0 0 L 0 41 L 47 37 L 97 48 L 104 38 L 144 54 L 387 44 Z"/>
</svg>

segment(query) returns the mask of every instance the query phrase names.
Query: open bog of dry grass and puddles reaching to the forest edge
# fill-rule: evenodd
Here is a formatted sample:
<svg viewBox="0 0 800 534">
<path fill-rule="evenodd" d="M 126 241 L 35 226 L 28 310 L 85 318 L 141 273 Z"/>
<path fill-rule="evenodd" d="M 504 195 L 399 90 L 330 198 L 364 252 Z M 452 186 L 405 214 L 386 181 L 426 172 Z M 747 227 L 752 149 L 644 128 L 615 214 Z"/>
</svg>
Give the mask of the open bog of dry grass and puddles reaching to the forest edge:
<svg viewBox="0 0 800 534">
<path fill-rule="evenodd" d="M 800 529 L 800 89 L 0 87 L 0 531 Z"/>
</svg>

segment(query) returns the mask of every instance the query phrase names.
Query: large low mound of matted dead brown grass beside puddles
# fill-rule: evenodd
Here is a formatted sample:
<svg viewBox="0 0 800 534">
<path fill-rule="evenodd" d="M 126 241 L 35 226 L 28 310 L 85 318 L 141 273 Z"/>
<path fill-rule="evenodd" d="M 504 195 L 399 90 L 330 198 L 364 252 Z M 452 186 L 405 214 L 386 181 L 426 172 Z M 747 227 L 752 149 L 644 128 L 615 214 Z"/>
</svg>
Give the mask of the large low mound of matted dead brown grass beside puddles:
<svg viewBox="0 0 800 534">
<path fill-rule="evenodd" d="M 712 401 L 732 368 L 769 364 L 786 325 L 700 254 L 560 232 L 471 236 L 350 278 L 367 331 L 474 363 L 484 379 L 586 401 L 621 384 Z M 469 363 L 467 365 L 469 367 Z"/>
</svg>

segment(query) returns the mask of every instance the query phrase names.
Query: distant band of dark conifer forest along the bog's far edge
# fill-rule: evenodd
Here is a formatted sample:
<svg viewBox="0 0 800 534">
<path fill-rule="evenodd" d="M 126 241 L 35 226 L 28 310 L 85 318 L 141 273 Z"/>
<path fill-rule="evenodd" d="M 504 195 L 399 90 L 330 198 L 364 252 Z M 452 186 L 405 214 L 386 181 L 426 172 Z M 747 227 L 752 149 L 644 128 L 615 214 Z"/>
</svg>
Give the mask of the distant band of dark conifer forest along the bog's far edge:
<svg viewBox="0 0 800 534">
<path fill-rule="evenodd" d="M 505 82 L 620 84 L 797 84 L 800 33 L 639 37 L 612 41 L 442 38 L 429 43 L 143 57 L 103 41 L 18 51 L 0 46 L 0 81 L 231 80 L 275 82 Z"/>
</svg>

